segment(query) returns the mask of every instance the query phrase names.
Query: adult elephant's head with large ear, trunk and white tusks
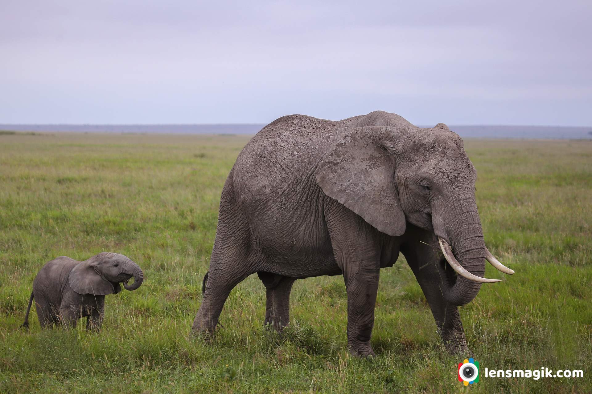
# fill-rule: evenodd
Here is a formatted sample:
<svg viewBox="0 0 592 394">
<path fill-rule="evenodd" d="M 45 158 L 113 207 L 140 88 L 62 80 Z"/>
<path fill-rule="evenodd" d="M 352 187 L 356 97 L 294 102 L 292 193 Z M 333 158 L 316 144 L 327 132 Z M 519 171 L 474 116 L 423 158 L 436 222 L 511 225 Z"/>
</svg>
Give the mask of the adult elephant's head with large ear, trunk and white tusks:
<svg viewBox="0 0 592 394">
<path fill-rule="evenodd" d="M 475 203 L 477 172 L 462 139 L 443 123 L 418 128 L 394 114 L 343 131 L 318 165 L 317 182 L 329 197 L 361 216 L 380 232 L 400 236 L 407 223 L 433 232 L 448 264 L 443 294 L 464 305 L 477 295 L 485 259 L 501 265 L 485 247 Z M 378 124 L 378 125 L 377 125 Z M 451 248 L 452 246 L 452 248 Z"/>
</svg>

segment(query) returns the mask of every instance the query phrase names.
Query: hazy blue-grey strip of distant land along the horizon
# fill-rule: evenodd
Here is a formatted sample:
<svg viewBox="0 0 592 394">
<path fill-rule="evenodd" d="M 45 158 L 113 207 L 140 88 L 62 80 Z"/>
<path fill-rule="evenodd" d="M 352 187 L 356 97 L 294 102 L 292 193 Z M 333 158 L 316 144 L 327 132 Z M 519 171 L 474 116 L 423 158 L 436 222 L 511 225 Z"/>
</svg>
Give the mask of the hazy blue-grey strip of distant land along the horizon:
<svg viewBox="0 0 592 394">
<path fill-rule="evenodd" d="M 263 124 L 217 125 L 2 125 L 0 130 L 26 132 L 160 133 L 160 134 L 255 134 Z M 427 126 L 425 126 L 427 127 Z M 467 138 L 592 139 L 592 127 L 449 125 Z"/>
</svg>

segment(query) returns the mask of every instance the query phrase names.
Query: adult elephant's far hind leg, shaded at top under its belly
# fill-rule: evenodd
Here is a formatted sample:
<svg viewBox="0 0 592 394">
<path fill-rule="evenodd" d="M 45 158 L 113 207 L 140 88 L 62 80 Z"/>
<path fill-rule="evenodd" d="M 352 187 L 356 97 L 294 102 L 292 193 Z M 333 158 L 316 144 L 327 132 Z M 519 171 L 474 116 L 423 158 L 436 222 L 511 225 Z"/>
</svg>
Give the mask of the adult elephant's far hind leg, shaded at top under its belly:
<svg viewBox="0 0 592 394">
<path fill-rule="evenodd" d="M 258 272 L 257 274 L 267 288 L 264 324 L 269 324 L 274 330 L 281 331 L 289 324 L 290 292 L 296 278 L 268 272 Z"/>
</svg>

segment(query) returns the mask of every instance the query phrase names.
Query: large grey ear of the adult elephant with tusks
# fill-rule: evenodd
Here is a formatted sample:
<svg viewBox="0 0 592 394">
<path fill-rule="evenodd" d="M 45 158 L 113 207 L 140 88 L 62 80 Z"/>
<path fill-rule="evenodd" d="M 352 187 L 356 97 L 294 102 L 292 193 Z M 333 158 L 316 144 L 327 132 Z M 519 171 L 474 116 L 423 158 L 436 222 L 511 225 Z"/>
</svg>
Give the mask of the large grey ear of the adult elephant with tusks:
<svg viewBox="0 0 592 394">
<path fill-rule="evenodd" d="M 394 182 L 395 129 L 353 128 L 337 139 L 314 172 L 327 196 L 339 201 L 382 233 L 405 232 Z"/>
</svg>

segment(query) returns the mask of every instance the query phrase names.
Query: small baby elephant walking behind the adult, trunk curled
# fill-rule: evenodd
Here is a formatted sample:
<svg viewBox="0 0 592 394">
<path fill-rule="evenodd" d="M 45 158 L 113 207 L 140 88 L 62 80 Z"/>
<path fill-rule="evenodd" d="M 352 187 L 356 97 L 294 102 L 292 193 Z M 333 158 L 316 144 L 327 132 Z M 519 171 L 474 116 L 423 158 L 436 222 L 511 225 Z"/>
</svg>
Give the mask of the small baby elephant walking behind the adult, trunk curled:
<svg viewBox="0 0 592 394">
<path fill-rule="evenodd" d="M 134 283 L 127 281 L 134 277 Z M 135 290 L 144 281 L 140 267 L 119 253 L 102 252 L 85 261 L 66 256 L 53 259 L 41 268 L 33 281 L 33 292 L 22 327 L 29 326 L 29 311 L 35 298 L 41 327 L 63 324 L 76 327 L 76 321 L 87 317 L 86 329 L 101 327 L 105 310 L 105 295 Z"/>
</svg>

